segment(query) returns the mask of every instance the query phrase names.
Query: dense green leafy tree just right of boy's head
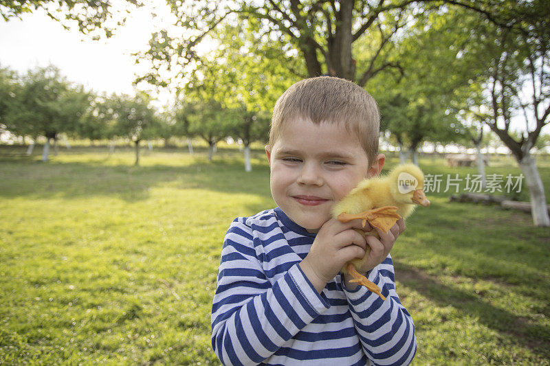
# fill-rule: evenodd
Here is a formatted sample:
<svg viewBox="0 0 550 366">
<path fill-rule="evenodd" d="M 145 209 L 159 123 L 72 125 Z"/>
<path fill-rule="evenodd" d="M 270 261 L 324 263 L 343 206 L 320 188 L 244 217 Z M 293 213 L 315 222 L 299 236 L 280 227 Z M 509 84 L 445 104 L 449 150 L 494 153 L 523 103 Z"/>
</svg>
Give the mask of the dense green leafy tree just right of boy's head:
<svg viewBox="0 0 550 366">
<path fill-rule="evenodd" d="M 434 8 L 409 21 L 389 62 L 403 67 L 393 77 L 377 75 L 369 89 L 379 102 L 381 130 L 391 133 L 399 146 L 399 160 L 417 163 L 417 149 L 424 141 L 446 144 L 463 139 L 465 128 L 452 106 L 466 98 L 467 65 L 461 60 L 461 43 L 467 36 L 456 34 L 460 18 L 454 10 Z"/>
</svg>

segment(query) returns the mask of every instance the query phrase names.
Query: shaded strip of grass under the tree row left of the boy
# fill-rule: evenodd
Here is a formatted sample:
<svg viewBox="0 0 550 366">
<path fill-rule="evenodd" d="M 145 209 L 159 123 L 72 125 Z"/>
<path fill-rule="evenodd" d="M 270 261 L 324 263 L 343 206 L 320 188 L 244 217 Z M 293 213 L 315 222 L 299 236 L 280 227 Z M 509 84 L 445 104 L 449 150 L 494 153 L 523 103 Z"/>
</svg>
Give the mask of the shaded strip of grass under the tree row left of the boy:
<svg viewBox="0 0 550 366">
<path fill-rule="evenodd" d="M 175 158 L 178 159 L 178 158 Z M 181 159 L 181 158 L 180 158 Z M 50 161 L 2 159 L 0 197 L 80 198 L 118 196 L 125 201 L 149 197 L 152 187 L 169 185 L 180 189 L 201 189 L 229 194 L 246 193 L 270 198 L 269 167 L 252 164 L 244 172 L 240 157 L 203 157 L 175 160 L 174 165 L 124 165 L 110 157 L 92 161 Z"/>
</svg>

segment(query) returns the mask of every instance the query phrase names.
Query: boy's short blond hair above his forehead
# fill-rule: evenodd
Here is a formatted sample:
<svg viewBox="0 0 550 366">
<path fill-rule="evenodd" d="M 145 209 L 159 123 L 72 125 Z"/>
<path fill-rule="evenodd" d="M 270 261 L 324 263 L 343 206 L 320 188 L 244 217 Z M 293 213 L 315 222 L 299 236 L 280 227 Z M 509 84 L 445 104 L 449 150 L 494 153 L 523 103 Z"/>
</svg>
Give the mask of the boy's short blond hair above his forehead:
<svg viewBox="0 0 550 366">
<path fill-rule="evenodd" d="M 299 118 L 314 124 L 343 124 L 350 134 L 357 135 L 369 164 L 373 163 L 378 152 L 380 113 L 374 98 L 358 84 L 331 76 L 293 84 L 275 104 L 270 146 L 275 144 L 287 122 Z"/>
</svg>

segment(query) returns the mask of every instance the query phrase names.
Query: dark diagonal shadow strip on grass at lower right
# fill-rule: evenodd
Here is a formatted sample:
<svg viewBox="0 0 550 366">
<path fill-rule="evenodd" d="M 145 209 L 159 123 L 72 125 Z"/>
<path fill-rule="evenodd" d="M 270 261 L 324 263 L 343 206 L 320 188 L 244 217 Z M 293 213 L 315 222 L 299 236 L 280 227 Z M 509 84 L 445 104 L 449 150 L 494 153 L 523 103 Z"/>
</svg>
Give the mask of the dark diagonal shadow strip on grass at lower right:
<svg viewBox="0 0 550 366">
<path fill-rule="evenodd" d="M 519 317 L 497 308 L 483 300 L 482 294 L 470 293 L 443 284 L 437 277 L 418 268 L 395 261 L 396 277 L 400 284 L 416 290 L 439 306 L 453 306 L 479 323 L 500 333 L 512 336 L 542 358 L 550 357 L 550 329 L 533 324 L 526 317 Z"/>
</svg>

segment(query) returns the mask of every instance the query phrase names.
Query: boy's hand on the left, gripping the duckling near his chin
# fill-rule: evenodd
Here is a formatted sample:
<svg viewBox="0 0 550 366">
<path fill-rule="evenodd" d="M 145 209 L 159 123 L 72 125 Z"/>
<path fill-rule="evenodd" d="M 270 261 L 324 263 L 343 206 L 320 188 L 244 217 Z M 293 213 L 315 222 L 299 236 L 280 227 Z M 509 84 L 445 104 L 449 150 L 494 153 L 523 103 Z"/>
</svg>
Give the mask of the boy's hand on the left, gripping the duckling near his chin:
<svg viewBox="0 0 550 366">
<path fill-rule="evenodd" d="M 360 219 L 342 223 L 336 218 L 331 218 L 322 225 L 309 253 L 300 262 L 300 268 L 318 293 L 321 293 L 327 282 L 338 274 L 346 262 L 364 257 L 367 240 L 362 233 L 353 229 L 372 230 L 369 223 L 363 227 Z M 372 239 L 369 240 L 372 241 Z M 395 241 L 395 239 L 393 240 Z M 382 245 L 384 246 L 384 244 Z M 391 245 L 393 246 L 393 241 Z M 382 258 L 382 260 L 384 259 Z"/>
</svg>

